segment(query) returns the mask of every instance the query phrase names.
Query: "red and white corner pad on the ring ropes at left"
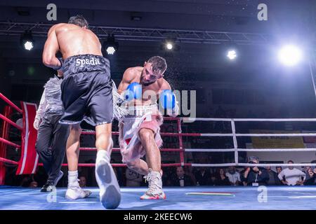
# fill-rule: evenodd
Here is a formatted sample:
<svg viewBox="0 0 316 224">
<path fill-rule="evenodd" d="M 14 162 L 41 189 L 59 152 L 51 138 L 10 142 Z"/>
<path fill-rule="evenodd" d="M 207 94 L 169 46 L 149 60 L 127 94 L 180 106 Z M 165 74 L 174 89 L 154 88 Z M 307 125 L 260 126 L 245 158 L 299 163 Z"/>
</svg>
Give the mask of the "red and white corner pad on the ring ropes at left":
<svg viewBox="0 0 316 224">
<path fill-rule="evenodd" d="M 21 144 L 21 158 L 16 175 L 35 174 L 39 155 L 35 150 L 37 142 L 37 130 L 34 129 L 33 123 L 37 113 L 37 104 L 21 102 L 23 111 L 23 130 Z"/>
</svg>

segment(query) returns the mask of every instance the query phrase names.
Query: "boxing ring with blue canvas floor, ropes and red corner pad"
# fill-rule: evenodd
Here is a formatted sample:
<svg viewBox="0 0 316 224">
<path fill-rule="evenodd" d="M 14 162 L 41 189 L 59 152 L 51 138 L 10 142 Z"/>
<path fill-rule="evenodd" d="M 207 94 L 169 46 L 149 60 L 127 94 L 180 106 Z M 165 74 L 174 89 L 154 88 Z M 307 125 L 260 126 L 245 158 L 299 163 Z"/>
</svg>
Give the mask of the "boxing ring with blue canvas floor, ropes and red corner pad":
<svg viewBox="0 0 316 224">
<path fill-rule="evenodd" d="M 5 164 L 17 165 L 16 174 L 34 174 L 38 166 L 42 166 L 38 162 L 38 155 L 34 149 L 34 129 L 32 123 L 34 116 L 32 113 L 36 111 L 35 104 L 21 102 L 22 109 L 13 104 L 3 94 L 0 99 L 4 100 L 11 109 L 4 110 L 4 115 L 0 115 L 3 120 L 1 130 L 1 149 L 0 165 Z M 9 119 L 12 109 L 22 113 L 23 127 L 15 124 Z M 192 121 L 192 119 L 202 122 L 216 121 L 230 123 L 231 133 L 188 133 L 182 131 L 183 123 Z M 177 132 L 162 132 L 162 136 L 178 138 L 179 148 L 162 148 L 162 153 L 178 152 L 180 162 L 162 163 L 162 167 L 227 167 L 227 166 L 280 166 L 287 167 L 287 164 L 251 164 L 239 162 L 239 152 L 276 152 L 276 151 L 315 151 L 316 148 L 239 148 L 237 143 L 238 137 L 316 137 L 316 133 L 292 133 L 292 134 L 241 134 L 236 132 L 235 125 L 242 122 L 315 122 L 316 119 L 235 119 L 235 118 L 164 118 L 164 120 L 176 121 Z M 187 123 L 190 124 L 190 123 Z M 8 126 L 12 125 L 22 132 L 21 145 L 15 144 L 8 140 Z M 85 131 L 82 134 L 95 134 L 92 131 Z M 112 132 L 118 135 L 118 132 Z M 36 136 L 36 135 L 35 135 Z M 230 137 L 233 141 L 233 148 L 185 148 L 183 137 Z M 36 137 L 35 137 L 36 141 Z M 6 158 L 4 146 L 15 147 L 21 150 L 20 160 L 13 161 Z M 96 148 L 80 148 L 81 151 L 96 151 Z M 113 152 L 118 152 L 119 148 L 113 148 Z M 185 153 L 208 153 L 208 152 L 234 152 L 235 162 L 221 164 L 197 164 L 185 162 Z M 295 167 L 312 166 L 312 163 L 293 164 Z M 63 164 L 67 166 L 67 164 Z M 94 167 L 94 164 L 79 163 L 79 167 Z M 113 167 L 126 167 L 124 164 L 112 164 Z M 1 172 L 1 169 L 0 169 Z M 3 168 L 2 168 L 3 172 Z M 92 195 L 83 200 L 65 200 L 66 188 L 57 188 L 52 193 L 40 193 L 40 188 L 20 188 L 12 186 L 0 186 L 0 209 L 12 210 L 98 210 L 104 209 L 98 198 L 98 188 L 86 188 L 91 190 Z M 223 186 L 195 186 L 195 187 L 165 187 L 166 200 L 140 200 L 147 188 L 121 188 L 121 204 L 119 210 L 251 210 L 251 209 L 315 209 L 316 208 L 316 188 L 313 186 L 268 186 L 268 187 L 223 187 Z"/>
</svg>

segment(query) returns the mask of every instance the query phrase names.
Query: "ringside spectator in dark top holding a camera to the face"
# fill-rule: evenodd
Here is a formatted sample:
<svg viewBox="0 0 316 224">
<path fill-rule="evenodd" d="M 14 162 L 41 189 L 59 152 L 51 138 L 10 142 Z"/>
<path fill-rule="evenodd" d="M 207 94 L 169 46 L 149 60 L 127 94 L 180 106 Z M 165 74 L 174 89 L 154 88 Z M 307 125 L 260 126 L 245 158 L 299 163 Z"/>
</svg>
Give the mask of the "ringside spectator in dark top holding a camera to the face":
<svg viewBox="0 0 316 224">
<path fill-rule="evenodd" d="M 258 164 L 259 158 L 251 156 L 249 163 Z M 263 167 L 248 167 L 244 172 L 244 179 L 247 186 L 266 186 L 269 181 L 269 174 Z"/>
</svg>

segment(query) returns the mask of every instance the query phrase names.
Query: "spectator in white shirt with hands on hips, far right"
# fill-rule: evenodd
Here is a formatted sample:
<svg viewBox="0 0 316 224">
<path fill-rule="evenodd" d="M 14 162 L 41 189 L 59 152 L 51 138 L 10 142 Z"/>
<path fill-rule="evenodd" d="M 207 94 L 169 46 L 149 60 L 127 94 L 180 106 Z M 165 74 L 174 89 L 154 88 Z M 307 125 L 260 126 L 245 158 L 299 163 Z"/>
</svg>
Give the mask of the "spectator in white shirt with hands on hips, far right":
<svg viewBox="0 0 316 224">
<path fill-rule="evenodd" d="M 306 176 L 304 172 L 291 166 L 291 164 L 294 164 L 292 160 L 289 160 L 287 163 L 289 164 L 289 167 L 279 173 L 279 180 L 282 181 L 284 185 L 288 186 L 303 185 Z M 285 178 L 285 181 L 283 180 L 283 177 Z"/>
</svg>

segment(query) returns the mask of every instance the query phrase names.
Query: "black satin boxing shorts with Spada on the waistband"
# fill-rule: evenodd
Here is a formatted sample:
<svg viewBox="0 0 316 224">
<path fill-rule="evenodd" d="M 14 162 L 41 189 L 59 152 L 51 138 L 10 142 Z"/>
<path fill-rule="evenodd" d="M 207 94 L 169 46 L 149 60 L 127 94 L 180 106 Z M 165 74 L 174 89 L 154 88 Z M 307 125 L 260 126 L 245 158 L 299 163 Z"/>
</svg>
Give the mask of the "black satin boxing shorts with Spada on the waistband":
<svg viewBox="0 0 316 224">
<path fill-rule="evenodd" d="M 65 112 L 59 122 L 74 125 L 85 120 L 93 126 L 112 123 L 110 62 L 98 55 L 74 55 L 65 59 L 61 70 Z"/>
</svg>

